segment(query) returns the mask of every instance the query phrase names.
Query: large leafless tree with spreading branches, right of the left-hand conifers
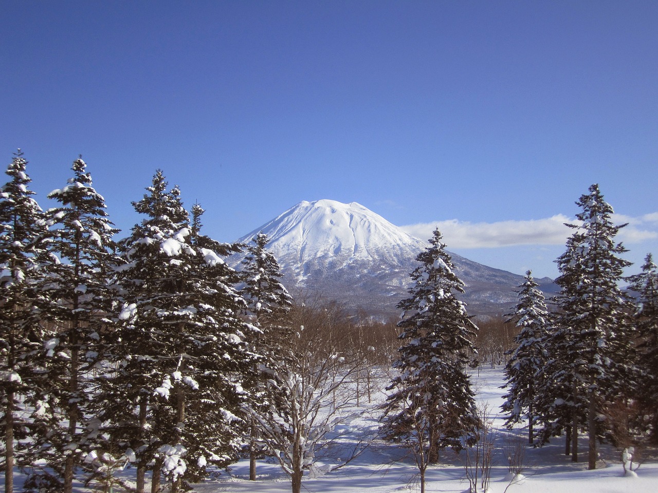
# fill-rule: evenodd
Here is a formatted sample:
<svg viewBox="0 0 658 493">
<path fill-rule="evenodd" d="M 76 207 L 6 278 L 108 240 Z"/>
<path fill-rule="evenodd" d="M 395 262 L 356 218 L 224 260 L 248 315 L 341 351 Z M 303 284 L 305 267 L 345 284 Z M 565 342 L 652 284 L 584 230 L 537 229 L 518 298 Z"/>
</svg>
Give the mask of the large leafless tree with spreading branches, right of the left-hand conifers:
<svg viewBox="0 0 658 493">
<path fill-rule="evenodd" d="M 351 442 L 343 438 L 353 434 L 349 423 L 363 412 L 357 408 L 357 379 L 368 363 L 349 342 L 349 318 L 337 304 L 311 300 L 292 311 L 298 330 L 288 341 L 290 358 L 261 368 L 278 390 L 279 405 L 252 415 L 261 440 L 299 493 L 305 471 L 313 476 L 338 469 L 367 446 L 365 434 Z M 324 465 L 318 467 L 320 458 Z"/>
</svg>

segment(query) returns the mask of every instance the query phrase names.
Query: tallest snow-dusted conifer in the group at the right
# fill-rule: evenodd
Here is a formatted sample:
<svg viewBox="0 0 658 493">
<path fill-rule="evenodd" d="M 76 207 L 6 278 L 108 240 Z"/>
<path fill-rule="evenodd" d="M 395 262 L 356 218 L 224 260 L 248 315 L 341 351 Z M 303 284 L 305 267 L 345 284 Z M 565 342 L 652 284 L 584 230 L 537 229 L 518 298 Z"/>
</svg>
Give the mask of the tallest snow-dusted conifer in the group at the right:
<svg viewBox="0 0 658 493">
<path fill-rule="evenodd" d="M 586 407 L 588 467 L 595 469 L 597 437 L 605 426 L 603 403 L 627 397 L 636 387 L 630 304 L 619 287 L 622 270 L 630 262 L 619 257 L 626 248 L 615 243 L 624 225 L 613 225 L 613 208 L 603 200 L 599 186 L 592 185 L 576 205 L 582 208 L 576 214 L 582 224 L 569 225 L 576 231 L 567 241 L 567 252 L 557 259 L 561 275 L 555 282 L 561 292 L 556 299 L 562 314 L 553 357 L 562 362 L 555 379 L 571 380 L 572 460 L 578 459 L 578 429 L 585 425 L 579 411 Z"/>
</svg>

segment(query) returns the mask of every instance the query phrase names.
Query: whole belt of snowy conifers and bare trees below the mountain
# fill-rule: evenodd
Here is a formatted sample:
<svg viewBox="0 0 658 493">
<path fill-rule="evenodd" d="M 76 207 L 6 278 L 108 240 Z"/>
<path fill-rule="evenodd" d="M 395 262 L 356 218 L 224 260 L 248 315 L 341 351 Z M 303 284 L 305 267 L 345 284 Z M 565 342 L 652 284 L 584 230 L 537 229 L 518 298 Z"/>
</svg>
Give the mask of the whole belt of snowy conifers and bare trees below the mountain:
<svg viewBox="0 0 658 493">
<path fill-rule="evenodd" d="M 566 437 L 565 454 L 595 469 L 611 443 L 632 472 L 658 442 L 658 269 L 647 254 L 624 277 L 624 225 L 598 185 L 576 202 L 553 298 L 528 271 L 509 314 L 470 316 L 436 230 L 401 317 L 382 322 L 288 293 L 266 235 L 205 235 L 201 205 L 187 210 L 161 170 L 120 232 L 82 158 L 48 210 L 27 168 L 18 151 L 0 189 L 7 493 L 14 473 L 28 492 L 179 492 L 241 458 L 255 480 L 265 457 L 299 493 L 367 450 L 366 434 L 349 453 L 332 444 L 359 437 L 348 425 L 379 390 L 377 438 L 409 452 L 421 492 L 445 450 L 468 458 L 469 489 L 484 492 L 492 449 L 470 375 L 487 365 L 504 367 L 501 411 L 532 446 Z M 234 270 L 224 259 L 238 252 Z"/>
</svg>

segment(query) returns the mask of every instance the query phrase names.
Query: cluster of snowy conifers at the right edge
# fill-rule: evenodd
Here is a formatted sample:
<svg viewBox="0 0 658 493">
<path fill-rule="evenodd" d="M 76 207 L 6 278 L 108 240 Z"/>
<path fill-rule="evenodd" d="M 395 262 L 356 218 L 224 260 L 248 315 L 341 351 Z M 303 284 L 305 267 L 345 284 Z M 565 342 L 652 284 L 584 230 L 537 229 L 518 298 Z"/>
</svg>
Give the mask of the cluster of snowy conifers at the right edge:
<svg viewBox="0 0 658 493">
<path fill-rule="evenodd" d="M 648 254 L 640 273 L 622 277 L 630 262 L 615 237 L 625 225 L 613 225 L 597 185 L 576 204 L 553 310 L 531 271 L 520 286 L 503 410 L 508 425 L 528 423 L 530 443 L 566 434 L 573 461 L 586 433 L 594 469 L 601 440 L 624 449 L 658 439 L 658 271 Z"/>
</svg>

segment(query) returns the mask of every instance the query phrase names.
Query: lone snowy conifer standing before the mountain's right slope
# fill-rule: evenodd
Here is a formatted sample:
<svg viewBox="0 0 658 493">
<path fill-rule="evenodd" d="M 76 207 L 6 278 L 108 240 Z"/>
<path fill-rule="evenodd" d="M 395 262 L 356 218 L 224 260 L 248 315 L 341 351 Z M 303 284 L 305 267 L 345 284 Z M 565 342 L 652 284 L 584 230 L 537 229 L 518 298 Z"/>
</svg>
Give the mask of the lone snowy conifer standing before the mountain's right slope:
<svg viewBox="0 0 658 493">
<path fill-rule="evenodd" d="M 422 458 L 419 467 L 436 461 L 442 448 L 459 450 L 479 425 L 466 373 L 477 327 L 455 297 L 465 285 L 441 239 L 436 229 L 410 274 L 411 297 L 397 304 L 403 346 L 393 364 L 399 376 L 384 404 L 384 436 L 411 448 Z"/>
</svg>

